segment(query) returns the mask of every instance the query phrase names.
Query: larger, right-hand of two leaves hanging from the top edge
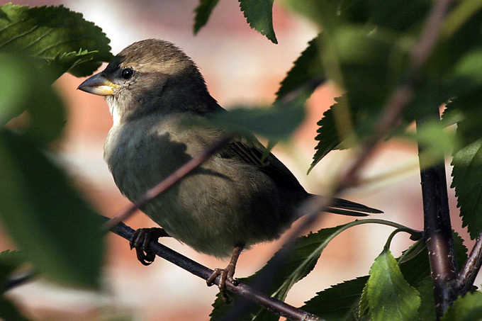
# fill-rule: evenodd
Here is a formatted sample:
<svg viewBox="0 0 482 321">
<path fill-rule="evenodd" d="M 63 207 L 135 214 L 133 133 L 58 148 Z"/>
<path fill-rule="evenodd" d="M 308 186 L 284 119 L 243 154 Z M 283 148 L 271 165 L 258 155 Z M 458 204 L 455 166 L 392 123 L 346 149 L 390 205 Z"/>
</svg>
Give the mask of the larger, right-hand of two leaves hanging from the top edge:
<svg viewBox="0 0 482 321">
<path fill-rule="evenodd" d="M 265 35 L 272 43 L 278 43 L 273 29 L 274 0 L 239 0 L 240 8 L 251 28 Z"/>
</svg>

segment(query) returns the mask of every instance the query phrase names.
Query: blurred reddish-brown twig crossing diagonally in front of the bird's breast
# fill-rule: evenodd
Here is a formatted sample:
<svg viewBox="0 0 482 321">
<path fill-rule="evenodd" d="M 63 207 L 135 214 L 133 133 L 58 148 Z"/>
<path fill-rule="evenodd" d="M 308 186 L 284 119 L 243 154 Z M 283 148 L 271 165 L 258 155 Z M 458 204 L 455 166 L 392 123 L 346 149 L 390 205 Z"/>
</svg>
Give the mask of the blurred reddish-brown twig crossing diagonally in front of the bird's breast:
<svg viewBox="0 0 482 321">
<path fill-rule="evenodd" d="M 211 146 L 206 148 L 206 150 L 203 150 L 203 152 L 196 155 L 196 157 L 191 158 L 189 162 L 186 162 L 186 164 L 179 167 L 179 169 L 176 169 L 174 173 L 167 176 L 166 179 L 164 179 L 159 184 L 157 184 L 156 186 L 152 187 L 150 190 L 145 192 L 144 195 L 142 195 L 138 199 L 138 201 L 135 201 L 132 205 L 129 205 L 124 210 L 120 210 L 120 212 L 114 215 L 114 218 L 111 218 L 111 220 L 108 220 L 104 224 L 104 227 L 106 228 L 106 230 L 111 229 L 111 227 L 129 218 L 130 215 L 133 215 L 133 213 L 136 210 L 138 210 L 138 208 L 140 208 L 142 205 L 145 205 L 145 203 L 152 201 L 154 198 L 161 195 L 169 188 L 174 186 L 176 183 L 181 181 L 181 179 L 183 179 L 184 176 L 191 173 L 191 171 L 194 171 L 194 169 L 201 166 L 203 162 L 206 162 L 206 160 L 208 160 L 209 157 L 211 157 L 216 152 L 220 151 L 226 144 L 228 144 L 230 139 L 231 137 L 226 136 L 216 140 L 215 142 L 213 142 Z"/>
</svg>

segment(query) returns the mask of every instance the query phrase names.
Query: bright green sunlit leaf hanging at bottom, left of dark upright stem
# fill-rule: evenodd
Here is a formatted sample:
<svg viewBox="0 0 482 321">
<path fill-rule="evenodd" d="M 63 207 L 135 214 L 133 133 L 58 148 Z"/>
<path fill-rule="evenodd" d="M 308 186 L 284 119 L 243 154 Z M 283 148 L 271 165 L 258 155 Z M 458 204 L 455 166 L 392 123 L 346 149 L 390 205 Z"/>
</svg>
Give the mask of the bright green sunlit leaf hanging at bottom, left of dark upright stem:
<svg viewBox="0 0 482 321">
<path fill-rule="evenodd" d="M 416 320 L 420 294 L 405 281 L 390 250 L 375 259 L 366 283 L 371 320 Z"/>
</svg>

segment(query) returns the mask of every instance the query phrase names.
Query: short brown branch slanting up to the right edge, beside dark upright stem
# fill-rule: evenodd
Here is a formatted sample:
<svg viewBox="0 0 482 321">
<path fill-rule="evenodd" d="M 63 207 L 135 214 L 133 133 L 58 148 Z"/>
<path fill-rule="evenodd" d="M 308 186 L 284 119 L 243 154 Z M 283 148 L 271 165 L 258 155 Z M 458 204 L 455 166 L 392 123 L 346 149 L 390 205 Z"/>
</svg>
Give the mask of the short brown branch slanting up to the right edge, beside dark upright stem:
<svg viewBox="0 0 482 321">
<path fill-rule="evenodd" d="M 482 232 L 478 235 L 476 244 L 473 245 L 469 258 L 457 275 L 454 288 L 459 295 L 464 295 L 469 291 L 476 279 L 478 271 L 482 265 Z"/>
</svg>

